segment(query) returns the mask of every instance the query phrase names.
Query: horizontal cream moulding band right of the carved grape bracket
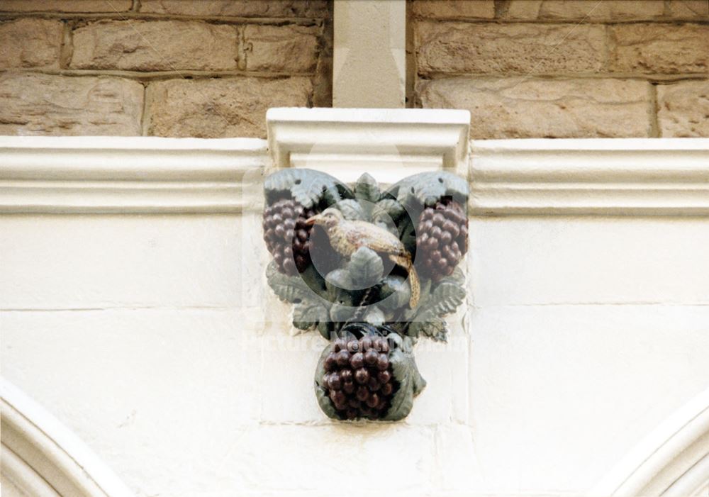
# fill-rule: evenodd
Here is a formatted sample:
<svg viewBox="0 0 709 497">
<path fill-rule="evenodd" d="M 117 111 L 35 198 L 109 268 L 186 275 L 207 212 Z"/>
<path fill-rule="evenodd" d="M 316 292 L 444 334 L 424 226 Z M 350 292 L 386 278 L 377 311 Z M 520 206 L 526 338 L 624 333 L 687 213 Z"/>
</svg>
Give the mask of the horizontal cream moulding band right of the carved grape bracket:
<svg viewBox="0 0 709 497">
<path fill-rule="evenodd" d="M 479 215 L 709 214 L 709 139 L 475 141 Z"/>
</svg>

